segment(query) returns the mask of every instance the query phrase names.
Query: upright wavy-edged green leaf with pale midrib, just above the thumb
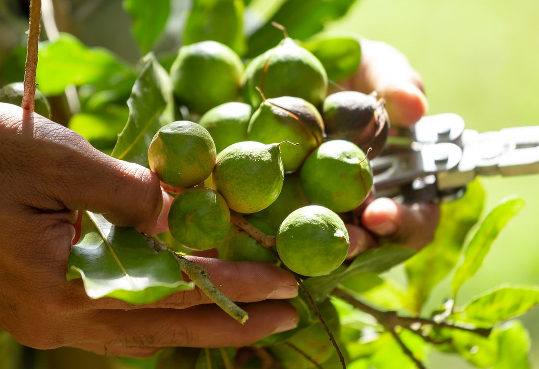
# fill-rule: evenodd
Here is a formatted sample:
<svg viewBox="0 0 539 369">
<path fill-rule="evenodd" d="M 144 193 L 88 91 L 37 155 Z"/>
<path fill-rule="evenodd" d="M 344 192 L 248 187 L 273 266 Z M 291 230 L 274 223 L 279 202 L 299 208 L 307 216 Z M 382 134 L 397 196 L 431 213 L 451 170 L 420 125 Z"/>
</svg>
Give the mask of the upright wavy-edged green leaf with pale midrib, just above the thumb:
<svg viewBox="0 0 539 369">
<path fill-rule="evenodd" d="M 172 87 L 155 56 L 148 54 L 146 60 L 127 100 L 129 119 L 118 136 L 112 156 L 148 167 L 148 148 L 163 126 L 161 113 L 172 102 Z"/>
</svg>

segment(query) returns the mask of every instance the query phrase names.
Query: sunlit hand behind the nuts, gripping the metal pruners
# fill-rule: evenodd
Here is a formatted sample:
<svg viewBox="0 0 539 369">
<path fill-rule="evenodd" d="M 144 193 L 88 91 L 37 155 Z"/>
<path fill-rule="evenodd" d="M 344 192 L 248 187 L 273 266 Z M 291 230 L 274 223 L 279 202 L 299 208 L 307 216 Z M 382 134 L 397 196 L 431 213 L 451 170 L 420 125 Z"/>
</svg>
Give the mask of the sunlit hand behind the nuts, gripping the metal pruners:
<svg viewBox="0 0 539 369">
<path fill-rule="evenodd" d="M 386 101 L 392 125 L 412 126 L 428 109 L 419 73 L 391 45 L 362 39 L 361 49 L 360 68 L 350 79 L 341 82 L 341 86 L 363 93 L 376 91 Z M 437 204 L 404 205 L 388 198 L 374 199 L 371 194 L 354 212 L 361 226 L 347 224 L 348 257 L 386 243 L 421 249 L 434 237 L 440 209 Z"/>
</svg>

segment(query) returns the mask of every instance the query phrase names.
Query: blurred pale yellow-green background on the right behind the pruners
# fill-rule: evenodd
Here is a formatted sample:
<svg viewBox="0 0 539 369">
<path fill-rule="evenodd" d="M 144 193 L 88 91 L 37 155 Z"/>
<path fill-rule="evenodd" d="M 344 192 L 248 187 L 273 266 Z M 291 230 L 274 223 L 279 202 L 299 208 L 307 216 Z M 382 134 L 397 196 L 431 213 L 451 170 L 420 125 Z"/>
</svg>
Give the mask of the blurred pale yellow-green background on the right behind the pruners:
<svg viewBox="0 0 539 369">
<path fill-rule="evenodd" d="M 386 41 L 423 76 L 429 114 L 462 116 L 479 131 L 539 124 L 539 2 L 536 0 L 362 0 L 331 25 Z M 517 194 L 526 206 L 502 230 L 457 303 L 503 282 L 539 284 L 539 175 L 483 177 L 486 211 Z M 430 306 L 448 297 L 444 281 Z M 427 309 L 429 307 L 427 306 Z M 539 309 L 522 317 L 539 367 Z M 461 359 L 437 354 L 432 368 L 467 368 Z"/>
</svg>

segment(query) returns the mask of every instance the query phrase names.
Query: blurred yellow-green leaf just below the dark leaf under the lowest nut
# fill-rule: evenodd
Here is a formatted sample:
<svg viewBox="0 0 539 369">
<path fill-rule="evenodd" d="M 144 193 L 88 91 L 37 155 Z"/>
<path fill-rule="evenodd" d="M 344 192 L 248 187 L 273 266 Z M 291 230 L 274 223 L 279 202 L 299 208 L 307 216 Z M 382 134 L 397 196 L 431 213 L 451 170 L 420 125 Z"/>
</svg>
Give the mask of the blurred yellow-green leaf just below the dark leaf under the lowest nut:
<svg viewBox="0 0 539 369">
<path fill-rule="evenodd" d="M 402 310 L 409 305 L 402 289 L 375 273 L 355 273 L 341 281 L 339 288 L 384 310 Z"/>
</svg>

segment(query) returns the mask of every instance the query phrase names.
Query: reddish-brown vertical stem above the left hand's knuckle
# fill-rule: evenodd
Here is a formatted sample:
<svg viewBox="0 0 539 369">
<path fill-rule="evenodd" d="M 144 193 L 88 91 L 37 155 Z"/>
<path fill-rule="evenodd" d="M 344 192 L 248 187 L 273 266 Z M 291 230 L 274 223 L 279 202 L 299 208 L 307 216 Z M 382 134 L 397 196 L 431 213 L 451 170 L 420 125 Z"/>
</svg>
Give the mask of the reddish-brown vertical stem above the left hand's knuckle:
<svg viewBox="0 0 539 369">
<path fill-rule="evenodd" d="M 30 2 L 30 22 L 28 43 L 26 44 L 26 69 L 24 72 L 24 93 L 21 107 L 27 112 L 34 111 L 34 96 L 36 95 L 37 51 L 39 43 L 41 18 L 41 0 Z"/>
</svg>

